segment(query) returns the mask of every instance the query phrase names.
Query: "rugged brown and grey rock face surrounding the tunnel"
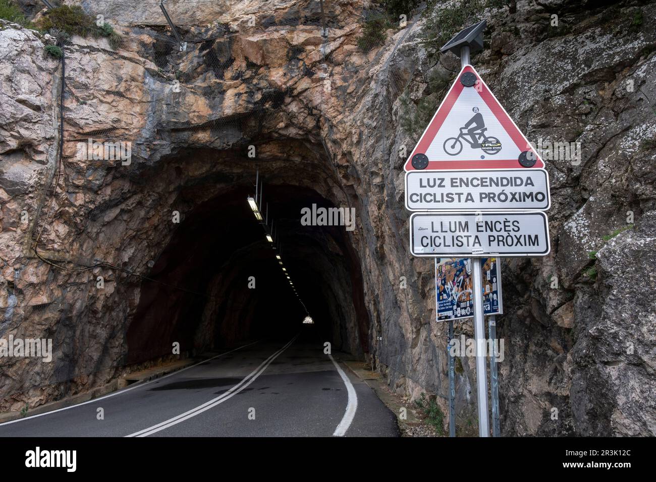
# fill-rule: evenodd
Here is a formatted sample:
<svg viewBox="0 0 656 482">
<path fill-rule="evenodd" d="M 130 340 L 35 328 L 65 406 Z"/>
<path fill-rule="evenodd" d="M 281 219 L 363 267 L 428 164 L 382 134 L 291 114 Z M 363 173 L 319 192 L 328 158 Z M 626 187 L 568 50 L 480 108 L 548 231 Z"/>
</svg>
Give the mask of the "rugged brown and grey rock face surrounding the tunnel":
<svg viewBox="0 0 656 482">
<path fill-rule="evenodd" d="M 363 5 L 324 4 L 322 16 L 318 1 L 196 11 L 170 0 L 180 50 L 155 3 L 82 2 L 123 41 L 72 37 L 64 49 L 61 166 L 60 62 L 43 53 L 54 39 L 0 21 L 0 336 L 54 345 L 52 363 L 0 359 L 0 409 L 107 382 L 170 353 L 171 340 L 194 351 L 246 336 L 234 321 L 258 315 L 234 288 L 245 271 L 225 267 L 261 263 L 228 239 L 213 248 L 228 215 L 210 213 L 247 209 L 231 200 L 252 191 L 251 145 L 298 248 L 291 262 L 321 287 L 312 311 L 326 336 L 445 409 L 433 262 L 408 252 L 400 153 L 459 70 L 422 42 L 426 18 L 446 7 L 363 52 Z M 487 48 L 472 63 L 529 140 L 571 147 L 543 151 L 551 254 L 503 262 L 502 433 L 656 435 L 656 4 L 519 1 L 481 15 Z M 90 138 L 130 155 L 93 159 Z M 354 208 L 356 229 L 307 237 L 297 213 L 313 202 Z M 43 262 L 37 240 L 68 270 Z M 188 292 L 171 288 L 181 280 Z M 476 426 L 475 376 L 474 359 L 457 360 L 462 427 Z"/>
</svg>

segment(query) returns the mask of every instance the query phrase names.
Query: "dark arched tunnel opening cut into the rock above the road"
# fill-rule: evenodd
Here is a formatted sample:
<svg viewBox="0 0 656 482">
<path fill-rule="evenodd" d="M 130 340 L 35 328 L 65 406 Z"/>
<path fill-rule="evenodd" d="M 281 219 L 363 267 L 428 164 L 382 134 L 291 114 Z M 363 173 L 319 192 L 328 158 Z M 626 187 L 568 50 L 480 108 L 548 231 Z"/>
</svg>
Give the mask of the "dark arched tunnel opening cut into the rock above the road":
<svg viewBox="0 0 656 482">
<path fill-rule="evenodd" d="M 232 151 L 186 150 L 161 162 L 163 172 L 142 174 L 175 178 L 178 187 L 168 222 L 163 216 L 167 241 L 149 260 L 149 279 L 139 286 L 126 363 L 170 355 L 174 342 L 181 351 L 199 353 L 245 340 L 289 338 L 308 314 L 320 341 L 331 342 L 333 350 L 356 357 L 368 352 L 361 267 L 346 226 L 301 224 L 304 208 L 337 207 L 319 193 L 331 191 L 326 188 L 337 180 L 329 180 L 314 159 L 258 159 L 262 214 L 266 222 L 268 207 L 275 243 L 266 239 L 247 202 L 255 193 L 253 159 Z M 195 163 L 210 169 L 199 175 Z M 173 222 L 174 211 L 179 223 Z"/>
</svg>

